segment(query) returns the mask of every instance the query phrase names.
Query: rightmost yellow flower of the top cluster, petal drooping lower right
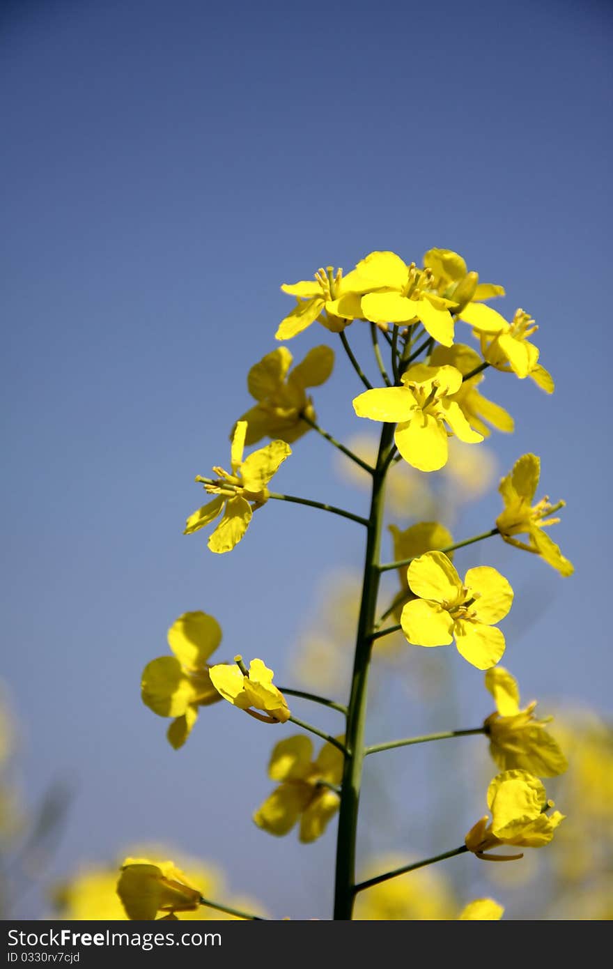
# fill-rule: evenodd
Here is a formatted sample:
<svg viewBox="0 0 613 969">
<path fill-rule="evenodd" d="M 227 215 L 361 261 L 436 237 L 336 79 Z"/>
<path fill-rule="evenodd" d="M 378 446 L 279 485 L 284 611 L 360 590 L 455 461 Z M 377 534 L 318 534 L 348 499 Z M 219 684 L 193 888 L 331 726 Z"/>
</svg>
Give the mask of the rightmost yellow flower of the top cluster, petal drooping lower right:
<svg viewBox="0 0 613 969">
<path fill-rule="evenodd" d="M 511 370 L 523 380 L 531 377 L 541 390 L 553 393 L 551 374 L 538 362 L 538 348 L 528 339 L 538 327 L 529 313 L 515 311 L 510 323 L 491 306 L 471 303 L 460 313 L 460 319 L 471 324 L 481 344 L 481 353 L 497 370 Z"/>
</svg>

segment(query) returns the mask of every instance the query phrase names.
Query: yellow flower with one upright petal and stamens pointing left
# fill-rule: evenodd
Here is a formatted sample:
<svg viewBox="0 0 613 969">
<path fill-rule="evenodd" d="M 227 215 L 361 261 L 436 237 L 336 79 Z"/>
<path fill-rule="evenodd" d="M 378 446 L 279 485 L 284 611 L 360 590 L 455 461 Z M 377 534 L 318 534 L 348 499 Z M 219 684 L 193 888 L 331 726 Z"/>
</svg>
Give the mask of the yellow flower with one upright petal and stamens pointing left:
<svg viewBox="0 0 613 969">
<path fill-rule="evenodd" d="M 254 511 L 268 500 L 266 485 L 291 454 L 291 448 L 285 441 L 273 441 L 243 460 L 246 434 L 247 422 L 237 422 L 230 451 L 231 474 L 223 468 L 213 468 L 218 476 L 217 481 L 205 483 L 204 490 L 218 497 L 202 505 L 185 523 L 183 534 L 191 535 L 223 513 L 222 520 L 207 543 L 214 552 L 230 551 L 238 545 Z M 196 480 L 202 481 L 200 477 Z"/>
</svg>

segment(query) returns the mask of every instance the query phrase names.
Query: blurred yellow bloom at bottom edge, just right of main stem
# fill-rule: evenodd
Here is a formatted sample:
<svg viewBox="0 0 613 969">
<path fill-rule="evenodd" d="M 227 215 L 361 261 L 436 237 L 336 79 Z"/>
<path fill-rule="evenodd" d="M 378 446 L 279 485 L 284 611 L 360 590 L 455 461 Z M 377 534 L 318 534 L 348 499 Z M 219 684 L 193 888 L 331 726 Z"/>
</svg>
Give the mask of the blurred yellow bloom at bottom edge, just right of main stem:
<svg viewBox="0 0 613 969">
<path fill-rule="evenodd" d="M 368 866 L 364 878 L 393 871 L 411 860 L 387 856 Z M 456 918 L 457 904 L 444 875 L 434 868 L 419 868 L 361 891 L 353 918 L 358 922 L 439 922 Z"/>
</svg>

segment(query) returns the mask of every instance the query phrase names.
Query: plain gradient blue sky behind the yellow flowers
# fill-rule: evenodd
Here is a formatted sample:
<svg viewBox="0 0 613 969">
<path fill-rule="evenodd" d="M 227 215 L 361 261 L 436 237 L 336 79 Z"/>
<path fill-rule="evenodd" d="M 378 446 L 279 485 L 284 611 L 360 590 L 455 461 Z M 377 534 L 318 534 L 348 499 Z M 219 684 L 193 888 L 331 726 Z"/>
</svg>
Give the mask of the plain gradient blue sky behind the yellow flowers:
<svg viewBox="0 0 613 969">
<path fill-rule="evenodd" d="M 327 917 L 332 832 L 305 849 L 250 821 L 271 735 L 218 705 L 174 753 L 138 683 L 198 609 L 229 656 L 265 655 L 290 680 L 317 583 L 359 558 L 356 526 L 290 506 L 262 510 L 228 556 L 181 531 L 195 474 L 228 459 L 248 367 L 275 346 L 280 283 L 373 249 L 456 249 L 504 283 L 501 308 L 540 324 L 557 391 L 494 374 L 517 419 L 494 444 L 502 469 L 540 453 L 577 571 L 502 543 L 487 560 L 532 597 L 506 655 L 524 695 L 606 711 L 611 23 L 596 2 L 5 7 L 4 676 L 28 800 L 55 778 L 75 791 L 54 875 L 157 840 L 223 864 L 277 916 Z M 291 350 L 324 339 L 314 327 Z M 359 390 L 339 356 L 317 395 L 339 436 L 358 429 Z M 279 489 L 364 510 L 313 438 Z M 494 493 L 466 534 L 497 509 Z M 479 674 L 449 664 L 481 719 Z M 394 733 L 422 716 L 403 711 Z M 481 810 L 479 792 L 461 835 Z M 20 905 L 44 910 L 36 892 Z"/>
</svg>

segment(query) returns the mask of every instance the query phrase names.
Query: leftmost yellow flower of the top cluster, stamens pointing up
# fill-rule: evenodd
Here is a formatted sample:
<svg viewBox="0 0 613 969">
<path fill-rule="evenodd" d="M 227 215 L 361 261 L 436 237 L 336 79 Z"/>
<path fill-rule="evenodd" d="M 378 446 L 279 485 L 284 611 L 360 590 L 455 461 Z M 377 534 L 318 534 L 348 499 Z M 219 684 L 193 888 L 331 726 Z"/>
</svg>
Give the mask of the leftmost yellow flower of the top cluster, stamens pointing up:
<svg viewBox="0 0 613 969">
<path fill-rule="evenodd" d="M 318 269 L 314 282 L 284 283 L 282 291 L 296 297 L 296 305 L 279 324 L 275 337 L 290 340 L 316 320 L 333 333 L 340 333 L 362 315 L 359 297 L 369 285 L 355 269 L 343 276 L 343 270 L 334 272 L 333 266 Z"/>
</svg>

